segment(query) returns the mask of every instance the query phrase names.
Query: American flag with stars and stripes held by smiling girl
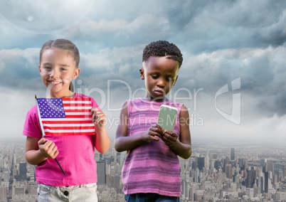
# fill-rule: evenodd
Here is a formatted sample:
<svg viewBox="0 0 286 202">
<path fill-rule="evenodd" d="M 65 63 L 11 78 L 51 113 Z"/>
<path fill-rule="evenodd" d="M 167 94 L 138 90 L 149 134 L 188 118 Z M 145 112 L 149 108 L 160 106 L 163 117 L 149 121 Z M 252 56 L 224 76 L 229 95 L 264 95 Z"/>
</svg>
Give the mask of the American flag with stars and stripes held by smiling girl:
<svg viewBox="0 0 286 202">
<path fill-rule="evenodd" d="M 90 98 L 38 98 L 44 135 L 95 134 Z"/>
</svg>

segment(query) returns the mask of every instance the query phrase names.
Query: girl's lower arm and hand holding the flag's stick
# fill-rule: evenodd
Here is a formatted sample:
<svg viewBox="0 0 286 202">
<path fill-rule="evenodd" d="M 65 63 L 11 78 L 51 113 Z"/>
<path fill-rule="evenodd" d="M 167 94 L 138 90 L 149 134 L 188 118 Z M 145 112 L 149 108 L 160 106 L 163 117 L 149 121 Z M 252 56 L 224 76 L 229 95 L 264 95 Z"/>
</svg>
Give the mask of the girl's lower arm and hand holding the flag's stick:
<svg viewBox="0 0 286 202">
<path fill-rule="evenodd" d="M 58 156 L 58 147 L 46 138 L 27 137 L 26 160 L 31 165 L 41 164 L 48 158 L 55 159 Z"/>
</svg>

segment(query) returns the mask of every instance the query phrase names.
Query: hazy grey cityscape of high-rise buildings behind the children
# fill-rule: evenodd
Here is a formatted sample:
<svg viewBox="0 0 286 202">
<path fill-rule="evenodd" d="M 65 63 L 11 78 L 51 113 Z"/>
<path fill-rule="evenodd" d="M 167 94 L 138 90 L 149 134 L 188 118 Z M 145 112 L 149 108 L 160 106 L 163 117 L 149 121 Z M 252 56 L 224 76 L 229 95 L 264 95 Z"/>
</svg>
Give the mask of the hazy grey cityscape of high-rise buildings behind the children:
<svg viewBox="0 0 286 202">
<path fill-rule="evenodd" d="M 194 142 L 194 141 L 193 141 Z M 226 143 L 192 145 L 181 159 L 180 201 L 286 201 L 286 147 Z M 121 169 L 126 152 L 113 145 L 95 153 L 98 201 L 125 201 Z M 37 201 L 35 166 L 26 162 L 25 145 L 0 142 L 0 202 Z"/>
</svg>

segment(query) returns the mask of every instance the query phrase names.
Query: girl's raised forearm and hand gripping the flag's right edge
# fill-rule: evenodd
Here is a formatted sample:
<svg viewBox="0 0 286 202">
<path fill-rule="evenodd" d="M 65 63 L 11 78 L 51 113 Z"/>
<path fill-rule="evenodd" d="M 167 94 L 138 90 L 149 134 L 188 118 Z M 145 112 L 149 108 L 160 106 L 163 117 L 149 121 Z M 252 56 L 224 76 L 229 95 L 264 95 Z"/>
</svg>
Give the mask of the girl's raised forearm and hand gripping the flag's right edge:
<svg viewBox="0 0 286 202">
<path fill-rule="evenodd" d="M 98 110 L 97 107 L 93 107 L 92 110 L 92 121 L 95 123 L 95 135 L 93 141 L 95 142 L 95 149 L 104 154 L 110 149 L 110 137 L 108 137 L 105 124 L 106 117 L 105 113 Z"/>
</svg>

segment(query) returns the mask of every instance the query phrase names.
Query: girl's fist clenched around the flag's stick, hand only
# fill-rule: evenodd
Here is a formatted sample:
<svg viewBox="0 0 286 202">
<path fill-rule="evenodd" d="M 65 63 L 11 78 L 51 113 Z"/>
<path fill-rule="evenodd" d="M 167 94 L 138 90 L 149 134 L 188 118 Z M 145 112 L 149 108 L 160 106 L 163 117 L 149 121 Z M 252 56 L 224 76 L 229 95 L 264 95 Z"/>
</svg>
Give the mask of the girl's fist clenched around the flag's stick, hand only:
<svg viewBox="0 0 286 202">
<path fill-rule="evenodd" d="M 45 158 L 55 159 L 55 157 L 58 156 L 58 147 L 45 137 L 38 141 L 38 148 Z"/>
</svg>

